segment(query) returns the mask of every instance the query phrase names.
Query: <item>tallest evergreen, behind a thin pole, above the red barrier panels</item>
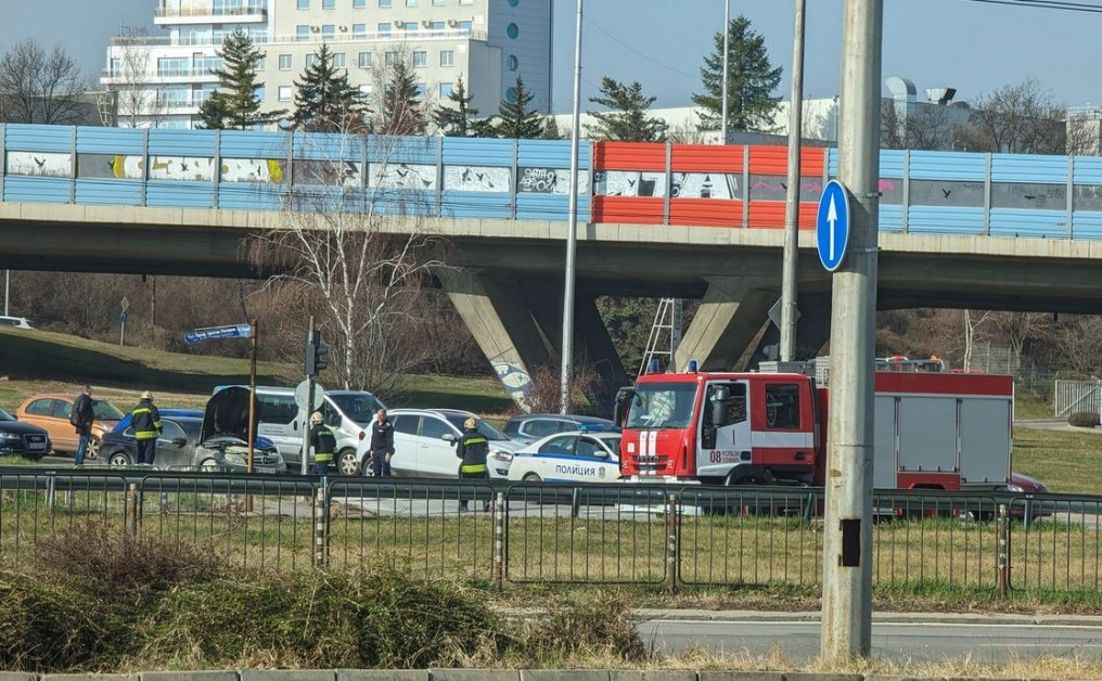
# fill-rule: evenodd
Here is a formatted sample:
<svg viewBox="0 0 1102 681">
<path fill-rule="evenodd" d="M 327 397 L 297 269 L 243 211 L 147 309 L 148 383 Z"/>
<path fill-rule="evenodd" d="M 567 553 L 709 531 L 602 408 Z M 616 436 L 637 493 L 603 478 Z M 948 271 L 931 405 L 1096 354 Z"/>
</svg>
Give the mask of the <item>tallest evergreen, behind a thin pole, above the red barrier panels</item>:
<svg viewBox="0 0 1102 681">
<path fill-rule="evenodd" d="M 780 83 L 780 66 L 774 68 L 765 37 L 750 29 L 750 20 L 736 17 L 727 25 L 727 127 L 731 130 L 765 130 L 773 126 Z M 693 104 L 703 109 L 701 130 L 717 130 L 723 115 L 723 33 L 715 34 L 715 52 L 704 57 L 700 69 L 703 94 Z"/>
</svg>

